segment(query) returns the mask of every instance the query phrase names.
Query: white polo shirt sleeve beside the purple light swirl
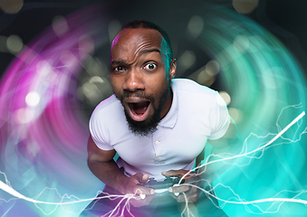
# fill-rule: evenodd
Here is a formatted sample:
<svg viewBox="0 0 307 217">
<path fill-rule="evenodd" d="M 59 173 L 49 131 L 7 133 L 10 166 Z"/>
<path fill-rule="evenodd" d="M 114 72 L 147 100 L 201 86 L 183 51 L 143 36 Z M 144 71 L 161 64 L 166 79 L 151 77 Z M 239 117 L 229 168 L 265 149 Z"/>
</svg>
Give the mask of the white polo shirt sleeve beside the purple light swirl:
<svg viewBox="0 0 307 217">
<path fill-rule="evenodd" d="M 90 118 L 90 133 L 91 133 L 91 138 L 102 150 L 109 151 L 114 149 L 113 146 L 110 146 L 110 142 L 108 142 L 108 138 L 106 137 L 106 129 L 99 117 L 99 111 L 95 111 L 92 113 L 91 118 Z"/>
</svg>

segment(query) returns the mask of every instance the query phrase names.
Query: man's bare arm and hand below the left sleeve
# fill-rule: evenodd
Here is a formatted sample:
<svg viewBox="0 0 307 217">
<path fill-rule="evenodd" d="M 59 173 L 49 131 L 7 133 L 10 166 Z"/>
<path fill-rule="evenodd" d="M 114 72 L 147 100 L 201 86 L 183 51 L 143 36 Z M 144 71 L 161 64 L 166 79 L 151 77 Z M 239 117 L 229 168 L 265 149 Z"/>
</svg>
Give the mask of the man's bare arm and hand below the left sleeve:
<svg viewBox="0 0 307 217">
<path fill-rule="evenodd" d="M 122 194 L 140 192 L 142 194 L 152 194 L 152 189 L 137 185 L 146 182 L 148 175 L 142 175 L 141 173 L 131 177 L 123 175 L 113 160 L 115 154 L 116 151 L 114 149 L 109 151 L 101 150 L 93 142 L 91 136 L 89 137 L 88 165 L 93 175 L 96 175 L 101 182 Z"/>
</svg>

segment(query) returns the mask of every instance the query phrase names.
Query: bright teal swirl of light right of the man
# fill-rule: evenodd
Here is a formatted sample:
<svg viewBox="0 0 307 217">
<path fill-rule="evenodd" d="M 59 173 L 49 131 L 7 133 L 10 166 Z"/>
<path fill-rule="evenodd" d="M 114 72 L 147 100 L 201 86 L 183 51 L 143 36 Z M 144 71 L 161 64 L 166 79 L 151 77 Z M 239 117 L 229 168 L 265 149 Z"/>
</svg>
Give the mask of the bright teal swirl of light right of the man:
<svg viewBox="0 0 307 217">
<path fill-rule="evenodd" d="M 230 145 L 234 146 L 234 153 L 239 153 L 244 145 L 246 152 L 254 150 L 306 110 L 302 69 L 273 34 L 244 15 L 212 6 L 202 17 L 205 27 L 196 42 L 220 64 L 221 86 L 232 99 L 229 108 L 243 113 L 243 120 L 237 124 L 239 135 L 242 138 L 254 135 L 245 144 L 237 139 Z M 237 193 L 244 201 L 255 201 L 277 193 L 293 198 L 294 192 L 302 192 L 296 199 L 306 200 L 304 127 L 306 121 L 302 118 L 266 149 L 262 157 L 237 160 L 215 181 L 216 186 L 225 184 L 232 191 L 216 187 L 216 196 L 225 201 L 233 197 L 234 201 Z M 229 216 L 264 213 L 289 216 L 307 212 L 304 205 L 293 203 L 220 204 Z"/>
</svg>

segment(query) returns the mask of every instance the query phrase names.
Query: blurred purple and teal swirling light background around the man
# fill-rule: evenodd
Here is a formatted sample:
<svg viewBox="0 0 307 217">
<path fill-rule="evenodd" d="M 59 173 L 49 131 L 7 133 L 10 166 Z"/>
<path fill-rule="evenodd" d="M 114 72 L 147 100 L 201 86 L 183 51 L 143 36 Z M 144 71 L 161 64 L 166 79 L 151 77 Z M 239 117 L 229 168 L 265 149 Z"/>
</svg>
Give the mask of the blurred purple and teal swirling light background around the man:
<svg viewBox="0 0 307 217">
<path fill-rule="evenodd" d="M 88 121 L 112 94 L 110 42 L 147 19 L 168 32 L 177 78 L 218 90 L 233 118 L 224 157 L 240 157 L 219 163 L 231 166 L 214 183 L 223 210 L 306 216 L 306 117 L 253 152 L 307 111 L 306 9 L 299 0 L 0 0 L 0 215 L 78 216 L 100 193 L 86 163 Z"/>
</svg>

